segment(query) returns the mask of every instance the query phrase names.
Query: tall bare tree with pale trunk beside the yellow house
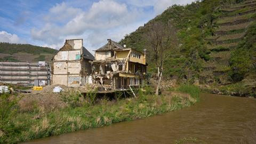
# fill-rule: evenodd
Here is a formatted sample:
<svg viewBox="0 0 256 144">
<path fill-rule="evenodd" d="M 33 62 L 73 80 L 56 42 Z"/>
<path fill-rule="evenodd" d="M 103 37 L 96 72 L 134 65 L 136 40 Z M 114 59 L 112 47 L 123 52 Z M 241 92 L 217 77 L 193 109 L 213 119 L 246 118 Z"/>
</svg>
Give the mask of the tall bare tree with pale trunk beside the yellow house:
<svg viewBox="0 0 256 144">
<path fill-rule="evenodd" d="M 152 52 L 153 61 L 157 68 L 157 86 L 156 95 L 158 95 L 159 87 L 163 77 L 164 61 L 170 57 L 172 51 L 178 45 L 176 30 L 171 22 L 167 24 L 156 21 L 149 26 L 149 32 L 146 37 L 148 49 Z"/>
</svg>

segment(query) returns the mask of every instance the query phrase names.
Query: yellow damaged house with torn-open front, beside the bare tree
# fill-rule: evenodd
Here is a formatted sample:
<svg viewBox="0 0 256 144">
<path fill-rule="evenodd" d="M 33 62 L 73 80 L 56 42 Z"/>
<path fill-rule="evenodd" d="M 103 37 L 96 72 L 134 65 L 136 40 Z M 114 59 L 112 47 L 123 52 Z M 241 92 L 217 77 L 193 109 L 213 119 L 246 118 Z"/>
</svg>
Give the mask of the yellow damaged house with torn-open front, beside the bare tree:
<svg viewBox="0 0 256 144">
<path fill-rule="evenodd" d="M 145 52 L 127 49 L 111 39 L 95 51 L 91 63 L 93 81 L 113 89 L 138 89 L 147 73 Z"/>
</svg>

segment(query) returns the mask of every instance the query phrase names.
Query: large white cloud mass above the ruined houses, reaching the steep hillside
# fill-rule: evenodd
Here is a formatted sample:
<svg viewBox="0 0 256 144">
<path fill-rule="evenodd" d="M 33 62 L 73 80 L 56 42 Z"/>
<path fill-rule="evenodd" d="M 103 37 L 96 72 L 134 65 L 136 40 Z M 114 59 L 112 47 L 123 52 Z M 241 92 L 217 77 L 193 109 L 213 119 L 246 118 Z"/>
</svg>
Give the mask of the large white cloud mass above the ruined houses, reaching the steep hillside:
<svg viewBox="0 0 256 144">
<path fill-rule="evenodd" d="M 119 2 L 117 2 L 119 1 Z M 59 49 L 68 38 L 83 38 L 86 48 L 95 49 L 107 38 L 119 41 L 142 26 L 150 18 L 173 4 L 187 4 L 194 0 L 100 0 L 89 9 L 77 9 L 72 3 L 53 6 L 42 19 L 42 27 L 30 30 L 31 37 Z M 151 11 L 143 7 L 151 6 Z M 92 50 L 91 49 L 91 50 Z"/>
</svg>

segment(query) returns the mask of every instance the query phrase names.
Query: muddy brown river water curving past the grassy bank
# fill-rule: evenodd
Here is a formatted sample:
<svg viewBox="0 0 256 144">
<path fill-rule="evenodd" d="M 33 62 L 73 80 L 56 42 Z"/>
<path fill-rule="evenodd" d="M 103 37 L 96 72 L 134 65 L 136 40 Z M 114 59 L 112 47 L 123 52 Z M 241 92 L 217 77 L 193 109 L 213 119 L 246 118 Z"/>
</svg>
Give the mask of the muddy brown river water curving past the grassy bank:
<svg viewBox="0 0 256 144">
<path fill-rule="evenodd" d="M 196 105 L 164 115 L 121 122 L 27 143 L 256 143 L 256 99 L 202 94 Z"/>
</svg>

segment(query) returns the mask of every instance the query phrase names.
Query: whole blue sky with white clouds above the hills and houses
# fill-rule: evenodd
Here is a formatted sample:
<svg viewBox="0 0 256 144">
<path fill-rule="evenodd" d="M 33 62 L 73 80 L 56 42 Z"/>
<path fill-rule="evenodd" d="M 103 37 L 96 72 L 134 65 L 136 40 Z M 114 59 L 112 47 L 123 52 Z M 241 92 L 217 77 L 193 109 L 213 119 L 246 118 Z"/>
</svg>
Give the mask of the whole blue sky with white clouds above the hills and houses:
<svg viewBox="0 0 256 144">
<path fill-rule="evenodd" d="M 194 0 L 1 0 L 0 42 L 60 49 L 69 38 L 83 38 L 92 50 L 120 41 L 173 4 Z"/>
</svg>

